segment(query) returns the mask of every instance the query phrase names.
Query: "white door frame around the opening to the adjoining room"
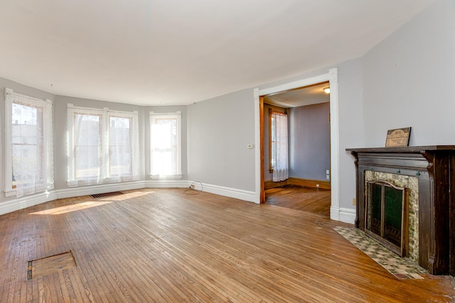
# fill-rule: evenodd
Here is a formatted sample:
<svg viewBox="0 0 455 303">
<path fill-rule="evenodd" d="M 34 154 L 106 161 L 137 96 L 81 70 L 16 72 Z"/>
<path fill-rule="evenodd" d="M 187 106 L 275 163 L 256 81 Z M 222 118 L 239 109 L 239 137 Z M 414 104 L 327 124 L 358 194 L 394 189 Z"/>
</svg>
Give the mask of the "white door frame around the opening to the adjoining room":
<svg viewBox="0 0 455 303">
<path fill-rule="evenodd" d="M 330 83 L 330 141 L 331 141 L 331 208 L 330 218 L 332 220 L 339 221 L 340 218 L 340 132 L 339 132 L 339 121 L 338 121 L 338 70 L 333 68 L 328 70 L 328 73 L 318 75 L 315 77 L 304 78 L 289 82 L 286 84 L 278 85 L 277 87 L 269 87 L 267 89 L 255 89 L 255 195 L 257 203 L 259 203 L 259 197 L 261 194 L 261 149 L 260 149 L 260 123 L 259 123 L 259 96 L 265 96 L 267 94 L 274 94 L 277 92 L 283 92 L 289 89 L 296 89 L 298 87 L 306 87 L 311 84 L 320 82 Z"/>
</svg>

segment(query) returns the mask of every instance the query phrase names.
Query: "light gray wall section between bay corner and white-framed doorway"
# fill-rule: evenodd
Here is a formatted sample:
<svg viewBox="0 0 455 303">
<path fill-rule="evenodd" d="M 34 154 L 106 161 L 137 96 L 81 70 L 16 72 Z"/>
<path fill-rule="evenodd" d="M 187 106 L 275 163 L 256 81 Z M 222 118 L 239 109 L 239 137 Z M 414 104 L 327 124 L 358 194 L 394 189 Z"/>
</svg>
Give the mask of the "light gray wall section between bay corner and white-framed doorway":
<svg viewBox="0 0 455 303">
<path fill-rule="evenodd" d="M 253 89 L 188 106 L 188 180 L 255 191 Z"/>
</svg>

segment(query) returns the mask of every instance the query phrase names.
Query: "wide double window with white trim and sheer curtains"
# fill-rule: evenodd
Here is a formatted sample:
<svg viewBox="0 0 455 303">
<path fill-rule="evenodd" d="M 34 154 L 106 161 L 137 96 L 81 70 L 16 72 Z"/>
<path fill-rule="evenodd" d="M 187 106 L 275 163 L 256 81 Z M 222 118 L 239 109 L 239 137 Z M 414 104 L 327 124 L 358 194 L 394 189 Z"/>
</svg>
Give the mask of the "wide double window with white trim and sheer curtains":
<svg viewBox="0 0 455 303">
<path fill-rule="evenodd" d="M 139 180 L 137 112 L 68 104 L 68 186 Z"/>
</svg>

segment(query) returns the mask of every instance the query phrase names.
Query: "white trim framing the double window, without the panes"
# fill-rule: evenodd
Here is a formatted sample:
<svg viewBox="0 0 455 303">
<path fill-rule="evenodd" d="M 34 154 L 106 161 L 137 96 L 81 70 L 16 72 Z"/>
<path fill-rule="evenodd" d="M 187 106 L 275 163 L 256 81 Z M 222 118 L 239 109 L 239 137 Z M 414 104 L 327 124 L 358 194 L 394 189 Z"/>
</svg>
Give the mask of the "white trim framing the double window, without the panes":
<svg viewBox="0 0 455 303">
<path fill-rule="evenodd" d="M 95 179 L 76 180 L 74 167 L 74 114 L 80 111 L 86 114 L 95 114 L 102 116 L 102 131 L 100 138 L 102 147 L 109 146 L 109 116 L 117 116 L 132 119 L 132 176 L 111 177 L 107 173 L 109 165 L 109 148 L 102 150 L 102 174 Z M 68 187 L 77 187 L 91 184 L 103 184 L 114 182 L 135 181 L 140 179 L 139 172 L 139 115 L 138 111 L 115 111 L 104 107 L 103 109 L 95 109 L 90 107 L 74 106 L 68 103 L 68 138 L 67 138 L 67 158 L 68 158 Z"/>
</svg>

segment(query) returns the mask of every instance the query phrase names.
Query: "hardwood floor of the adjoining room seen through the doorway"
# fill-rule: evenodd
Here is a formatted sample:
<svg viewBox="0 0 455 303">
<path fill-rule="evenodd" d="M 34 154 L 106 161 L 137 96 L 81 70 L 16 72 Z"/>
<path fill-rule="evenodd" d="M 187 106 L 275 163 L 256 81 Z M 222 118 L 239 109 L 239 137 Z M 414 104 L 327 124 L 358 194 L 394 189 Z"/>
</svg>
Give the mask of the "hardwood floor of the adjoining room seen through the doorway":
<svg viewBox="0 0 455 303">
<path fill-rule="evenodd" d="M 265 203 L 330 217 L 330 189 L 284 186 L 266 189 Z"/>
</svg>

